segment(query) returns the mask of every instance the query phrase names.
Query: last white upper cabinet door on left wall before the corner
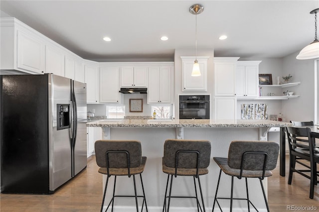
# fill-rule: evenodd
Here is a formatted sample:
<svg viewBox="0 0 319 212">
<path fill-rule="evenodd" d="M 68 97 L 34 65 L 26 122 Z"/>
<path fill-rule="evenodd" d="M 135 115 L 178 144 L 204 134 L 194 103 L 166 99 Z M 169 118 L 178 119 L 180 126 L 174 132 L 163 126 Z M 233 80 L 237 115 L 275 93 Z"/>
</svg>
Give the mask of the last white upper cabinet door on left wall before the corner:
<svg viewBox="0 0 319 212">
<path fill-rule="evenodd" d="M 96 65 L 84 65 L 86 83 L 86 102 L 91 104 L 99 103 L 99 69 Z"/>
</svg>

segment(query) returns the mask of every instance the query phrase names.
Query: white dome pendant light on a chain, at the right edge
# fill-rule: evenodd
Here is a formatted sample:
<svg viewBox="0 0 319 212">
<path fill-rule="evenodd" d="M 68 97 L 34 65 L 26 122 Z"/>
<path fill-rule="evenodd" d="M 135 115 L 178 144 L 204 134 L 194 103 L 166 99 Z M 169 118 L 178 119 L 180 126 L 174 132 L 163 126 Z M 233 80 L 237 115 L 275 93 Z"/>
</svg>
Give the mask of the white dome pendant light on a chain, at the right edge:
<svg viewBox="0 0 319 212">
<path fill-rule="evenodd" d="M 319 40 L 317 39 L 317 13 L 319 8 L 314 9 L 310 14 L 315 14 L 315 40 L 305 48 L 303 48 L 299 55 L 297 55 L 298 60 L 314 59 L 319 57 Z"/>
</svg>

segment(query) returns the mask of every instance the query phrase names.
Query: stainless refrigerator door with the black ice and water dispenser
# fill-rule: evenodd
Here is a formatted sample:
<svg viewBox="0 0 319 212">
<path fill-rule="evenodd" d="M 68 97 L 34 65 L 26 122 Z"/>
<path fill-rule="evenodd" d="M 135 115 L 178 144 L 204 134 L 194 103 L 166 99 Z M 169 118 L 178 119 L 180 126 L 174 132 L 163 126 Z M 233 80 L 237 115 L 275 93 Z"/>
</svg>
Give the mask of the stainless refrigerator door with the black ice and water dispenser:
<svg viewBox="0 0 319 212">
<path fill-rule="evenodd" d="M 49 190 L 54 191 L 72 178 L 71 80 L 49 74 L 48 81 Z"/>
</svg>

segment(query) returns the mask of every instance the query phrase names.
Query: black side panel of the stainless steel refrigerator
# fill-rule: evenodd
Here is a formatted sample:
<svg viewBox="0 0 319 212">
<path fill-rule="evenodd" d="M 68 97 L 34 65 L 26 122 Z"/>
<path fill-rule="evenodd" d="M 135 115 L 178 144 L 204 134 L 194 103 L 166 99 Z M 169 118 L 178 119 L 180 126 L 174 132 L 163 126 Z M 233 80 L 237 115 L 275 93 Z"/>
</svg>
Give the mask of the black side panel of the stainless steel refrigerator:
<svg viewBox="0 0 319 212">
<path fill-rule="evenodd" d="M 48 77 L 1 76 L 1 192 L 47 194 Z"/>
</svg>

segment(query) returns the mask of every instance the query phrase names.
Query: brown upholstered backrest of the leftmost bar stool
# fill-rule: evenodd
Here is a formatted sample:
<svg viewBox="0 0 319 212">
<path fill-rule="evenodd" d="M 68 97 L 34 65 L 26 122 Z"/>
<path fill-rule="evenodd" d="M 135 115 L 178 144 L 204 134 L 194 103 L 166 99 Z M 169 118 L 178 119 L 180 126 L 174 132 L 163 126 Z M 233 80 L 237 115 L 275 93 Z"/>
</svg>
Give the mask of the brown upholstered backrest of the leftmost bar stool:
<svg viewBox="0 0 319 212">
<path fill-rule="evenodd" d="M 99 167 L 107 168 L 107 152 L 109 151 L 109 168 L 127 168 L 129 153 L 130 167 L 139 167 L 142 162 L 141 142 L 137 140 L 97 140 L 95 141 L 95 157 Z M 113 151 L 113 153 L 112 153 Z M 116 153 L 123 151 L 123 153 Z"/>
</svg>

